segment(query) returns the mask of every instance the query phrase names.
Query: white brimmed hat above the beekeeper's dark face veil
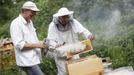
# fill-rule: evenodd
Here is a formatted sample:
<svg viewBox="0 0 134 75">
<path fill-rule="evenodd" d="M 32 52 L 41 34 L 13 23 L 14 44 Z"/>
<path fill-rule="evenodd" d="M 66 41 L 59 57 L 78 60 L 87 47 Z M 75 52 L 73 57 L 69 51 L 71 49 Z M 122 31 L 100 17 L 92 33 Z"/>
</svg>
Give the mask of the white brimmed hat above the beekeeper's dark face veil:
<svg viewBox="0 0 134 75">
<path fill-rule="evenodd" d="M 56 14 L 54 14 L 53 16 L 54 16 L 54 17 L 59 17 L 59 16 L 65 16 L 65 15 L 71 15 L 71 14 L 73 14 L 73 13 L 74 13 L 73 11 L 69 11 L 67 8 L 62 7 L 62 8 L 60 8 L 59 11 L 58 11 Z"/>
</svg>

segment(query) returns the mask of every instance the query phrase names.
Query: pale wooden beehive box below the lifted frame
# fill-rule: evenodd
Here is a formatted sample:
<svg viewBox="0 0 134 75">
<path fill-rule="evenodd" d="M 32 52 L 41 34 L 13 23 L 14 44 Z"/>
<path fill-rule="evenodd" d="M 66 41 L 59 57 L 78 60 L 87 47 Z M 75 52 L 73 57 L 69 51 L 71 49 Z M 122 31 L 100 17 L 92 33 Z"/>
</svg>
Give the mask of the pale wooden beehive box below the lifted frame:
<svg viewBox="0 0 134 75">
<path fill-rule="evenodd" d="M 66 61 L 66 70 L 69 75 L 102 75 L 104 72 L 102 60 L 98 57 Z"/>
</svg>

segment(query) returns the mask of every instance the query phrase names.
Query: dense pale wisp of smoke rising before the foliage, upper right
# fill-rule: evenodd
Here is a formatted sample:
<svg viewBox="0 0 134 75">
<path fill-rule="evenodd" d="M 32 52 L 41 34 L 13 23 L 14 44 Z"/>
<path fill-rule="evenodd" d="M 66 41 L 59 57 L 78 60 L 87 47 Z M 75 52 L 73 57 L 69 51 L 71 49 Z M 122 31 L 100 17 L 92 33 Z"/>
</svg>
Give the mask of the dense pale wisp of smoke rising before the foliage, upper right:
<svg viewBox="0 0 134 75">
<path fill-rule="evenodd" d="M 121 19 L 121 13 L 119 10 L 115 10 L 111 13 L 110 18 L 106 20 L 105 26 L 106 26 L 106 37 L 108 39 L 114 37 L 116 33 L 118 32 L 118 24 L 120 23 Z"/>
</svg>

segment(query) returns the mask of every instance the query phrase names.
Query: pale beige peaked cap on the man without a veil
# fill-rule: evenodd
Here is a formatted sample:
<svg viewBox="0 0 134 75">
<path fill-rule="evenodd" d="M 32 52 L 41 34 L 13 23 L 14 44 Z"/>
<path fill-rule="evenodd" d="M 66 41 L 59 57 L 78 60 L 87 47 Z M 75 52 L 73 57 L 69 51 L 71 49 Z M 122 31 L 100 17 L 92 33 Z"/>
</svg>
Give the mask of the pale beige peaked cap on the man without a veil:
<svg viewBox="0 0 134 75">
<path fill-rule="evenodd" d="M 29 9 L 29 10 L 32 10 L 32 11 L 40 11 L 40 10 L 37 8 L 36 4 L 33 3 L 32 1 L 27 1 L 27 2 L 25 2 L 25 3 L 23 4 L 23 6 L 22 6 L 22 9 Z"/>
</svg>

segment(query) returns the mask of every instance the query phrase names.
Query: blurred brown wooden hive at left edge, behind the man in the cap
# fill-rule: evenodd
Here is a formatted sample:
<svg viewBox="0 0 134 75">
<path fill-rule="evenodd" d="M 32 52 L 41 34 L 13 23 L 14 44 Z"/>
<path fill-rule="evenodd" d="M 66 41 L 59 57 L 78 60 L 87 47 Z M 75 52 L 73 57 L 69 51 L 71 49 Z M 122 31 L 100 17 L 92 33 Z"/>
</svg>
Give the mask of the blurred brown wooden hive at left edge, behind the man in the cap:
<svg viewBox="0 0 134 75">
<path fill-rule="evenodd" d="M 5 69 L 13 59 L 13 45 L 9 38 L 0 40 L 0 68 Z"/>
</svg>

